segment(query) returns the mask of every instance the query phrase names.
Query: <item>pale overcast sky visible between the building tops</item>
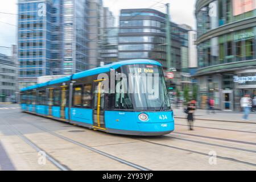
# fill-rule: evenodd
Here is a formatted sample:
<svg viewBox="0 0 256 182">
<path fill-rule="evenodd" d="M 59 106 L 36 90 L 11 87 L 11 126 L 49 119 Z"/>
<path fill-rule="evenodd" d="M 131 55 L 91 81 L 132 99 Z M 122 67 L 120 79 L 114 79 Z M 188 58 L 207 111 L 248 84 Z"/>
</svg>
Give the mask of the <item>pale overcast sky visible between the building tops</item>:
<svg viewBox="0 0 256 182">
<path fill-rule="evenodd" d="M 16 44 L 16 26 L 17 15 L 8 15 L 2 13 L 17 14 L 17 0 L 0 1 L 0 53 L 11 55 L 11 49 L 1 48 L 11 47 Z M 173 22 L 178 24 L 188 24 L 195 29 L 195 3 L 196 0 L 103 0 L 104 6 L 109 7 L 110 11 L 118 17 L 121 9 L 151 8 L 166 13 L 165 3 L 170 3 L 170 14 Z M 9 24 L 5 24 L 5 23 Z"/>
</svg>

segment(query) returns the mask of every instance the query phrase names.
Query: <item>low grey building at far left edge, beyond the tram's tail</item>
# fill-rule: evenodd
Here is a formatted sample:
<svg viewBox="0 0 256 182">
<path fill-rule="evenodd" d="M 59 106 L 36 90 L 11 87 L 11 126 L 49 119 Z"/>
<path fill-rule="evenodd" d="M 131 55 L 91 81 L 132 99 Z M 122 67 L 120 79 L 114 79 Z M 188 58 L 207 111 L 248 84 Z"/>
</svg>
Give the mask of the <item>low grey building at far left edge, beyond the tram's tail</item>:
<svg viewBox="0 0 256 182">
<path fill-rule="evenodd" d="M 11 102 L 16 92 L 16 64 L 0 53 L 0 102 Z"/>
</svg>

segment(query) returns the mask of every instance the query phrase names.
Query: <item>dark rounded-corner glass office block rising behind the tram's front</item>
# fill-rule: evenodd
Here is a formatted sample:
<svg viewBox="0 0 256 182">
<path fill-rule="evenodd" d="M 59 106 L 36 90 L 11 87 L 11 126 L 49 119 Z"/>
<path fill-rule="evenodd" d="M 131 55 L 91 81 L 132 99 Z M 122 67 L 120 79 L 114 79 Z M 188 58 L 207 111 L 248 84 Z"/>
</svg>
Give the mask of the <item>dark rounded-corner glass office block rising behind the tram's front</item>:
<svg viewBox="0 0 256 182">
<path fill-rule="evenodd" d="M 189 66 L 188 30 L 176 23 L 170 24 L 171 61 L 176 72 L 168 85 L 175 84 L 181 90 L 184 75 L 182 73 L 188 72 Z M 166 69 L 166 14 L 154 9 L 123 9 L 119 16 L 118 35 L 119 60 L 153 59 L 159 61 Z"/>
</svg>

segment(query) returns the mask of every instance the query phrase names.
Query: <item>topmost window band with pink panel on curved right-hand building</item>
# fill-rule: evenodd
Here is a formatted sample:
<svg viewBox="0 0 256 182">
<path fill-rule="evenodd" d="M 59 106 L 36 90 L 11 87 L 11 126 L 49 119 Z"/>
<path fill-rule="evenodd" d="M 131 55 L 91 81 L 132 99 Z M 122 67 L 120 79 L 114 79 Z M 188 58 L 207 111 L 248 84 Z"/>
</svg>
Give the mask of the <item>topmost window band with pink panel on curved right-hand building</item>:
<svg viewBox="0 0 256 182">
<path fill-rule="evenodd" d="M 256 16 L 255 0 L 217 0 L 199 8 L 196 10 L 198 37 L 214 28 Z"/>
</svg>

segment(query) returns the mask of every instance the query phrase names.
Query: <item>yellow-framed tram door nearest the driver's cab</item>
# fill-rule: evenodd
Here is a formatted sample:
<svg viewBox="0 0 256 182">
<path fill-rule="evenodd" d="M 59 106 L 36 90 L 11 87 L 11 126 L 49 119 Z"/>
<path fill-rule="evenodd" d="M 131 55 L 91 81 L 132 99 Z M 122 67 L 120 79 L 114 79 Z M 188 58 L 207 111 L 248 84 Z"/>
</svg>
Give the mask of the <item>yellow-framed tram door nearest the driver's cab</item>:
<svg viewBox="0 0 256 182">
<path fill-rule="evenodd" d="M 94 80 L 94 101 L 93 101 L 93 127 L 96 129 L 105 129 L 105 93 L 102 93 L 104 80 Z"/>
</svg>

